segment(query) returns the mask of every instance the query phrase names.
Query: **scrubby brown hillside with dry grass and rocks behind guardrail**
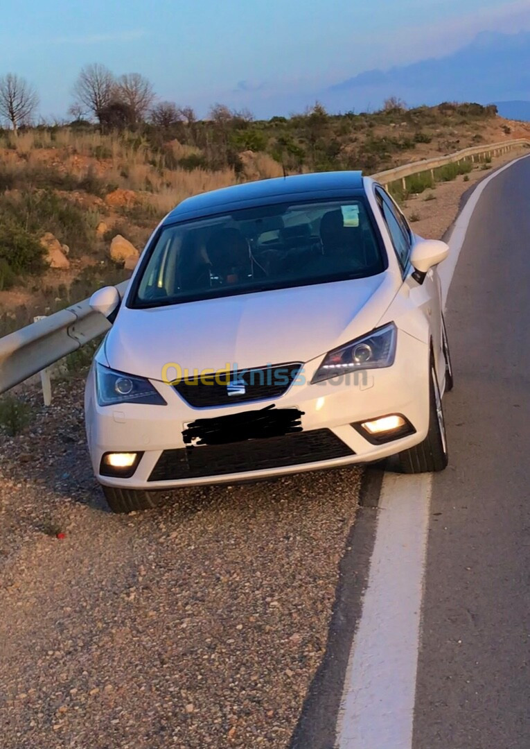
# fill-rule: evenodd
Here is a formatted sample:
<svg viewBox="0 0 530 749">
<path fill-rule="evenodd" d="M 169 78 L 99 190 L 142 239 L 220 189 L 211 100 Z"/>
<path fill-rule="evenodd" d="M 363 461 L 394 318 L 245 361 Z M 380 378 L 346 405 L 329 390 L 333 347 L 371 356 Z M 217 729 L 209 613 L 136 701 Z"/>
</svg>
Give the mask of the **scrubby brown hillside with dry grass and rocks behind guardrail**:
<svg viewBox="0 0 530 749">
<path fill-rule="evenodd" d="M 370 174 L 529 133 L 530 124 L 499 118 L 494 108 L 448 103 L 360 115 L 327 115 L 317 105 L 305 115 L 269 121 L 227 110 L 214 121 L 136 133 L 102 134 L 82 122 L 26 130 L 18 138 L 4 131 L 0 333 L 126 278 L 128 245 L 113 261 L 113 237 L 141 250 L 159 219 L 188 195 L 284 173 Z M 67 252 L 64 267 L 46 264 L 45 234 L 47 246 Z"/>
</svg>

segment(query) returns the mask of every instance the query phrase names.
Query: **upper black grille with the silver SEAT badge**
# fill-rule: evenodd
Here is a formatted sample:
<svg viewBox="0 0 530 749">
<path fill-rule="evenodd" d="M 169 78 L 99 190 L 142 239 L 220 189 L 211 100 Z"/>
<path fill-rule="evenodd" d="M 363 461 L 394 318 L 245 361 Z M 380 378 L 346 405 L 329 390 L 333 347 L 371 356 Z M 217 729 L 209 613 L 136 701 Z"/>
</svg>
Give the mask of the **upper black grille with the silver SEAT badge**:
<svg viewBox="0 0 530 749">
<path fill-rule="evenodd" d="M 214 375 L 190 378 L 189 382 L 181 380 L 174 385 L 178 394 L 194 408 L 228 406 L 234 403 L 265 401 L 267 398 L 279 398 L 290 388 L 298 375 L 302 364 L 275 364 L 240 372 L 222 372 Z M 231 384 L 229 388 L 229 384 Z M 243 386 L 245 392 L 237 392 Z M 229 390 L 232 392 L 229 395 Z M 236 392 L 234 392 L 236 391 Z"/>
</svg>

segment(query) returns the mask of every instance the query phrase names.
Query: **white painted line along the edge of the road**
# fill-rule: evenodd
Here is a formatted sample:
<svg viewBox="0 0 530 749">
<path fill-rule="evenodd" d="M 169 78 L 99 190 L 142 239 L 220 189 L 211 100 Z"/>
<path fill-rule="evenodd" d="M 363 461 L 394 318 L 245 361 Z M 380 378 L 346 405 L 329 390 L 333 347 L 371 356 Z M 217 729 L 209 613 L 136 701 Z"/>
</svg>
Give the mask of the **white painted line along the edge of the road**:
<svg viewBox="0 0 530 749">
<path fill-rule="evenodd" d="M 528 158 L 528 157 L 521 157 Z M 475 188 L 455 222 L 439 269 L 443 304 L 482 192 L 511 163 Z M 348 661 L 338 716 L 338 749 L 411 749 L 430 494 L 428 473 L 386 473 L 362 617 Z"/>
</svg>

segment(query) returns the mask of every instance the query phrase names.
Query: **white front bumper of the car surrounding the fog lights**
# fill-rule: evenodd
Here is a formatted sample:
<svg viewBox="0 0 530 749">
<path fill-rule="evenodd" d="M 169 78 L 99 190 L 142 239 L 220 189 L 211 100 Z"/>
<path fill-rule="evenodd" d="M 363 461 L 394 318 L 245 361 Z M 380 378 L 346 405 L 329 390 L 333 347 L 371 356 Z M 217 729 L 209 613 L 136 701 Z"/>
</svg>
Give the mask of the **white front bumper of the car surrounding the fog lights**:
<svg viewBox="0 0 530 749">
<path fill-rule="evenodd" d="M 309 366 L 305 374 L 309 382 L 313 374 Z M 95 397 L 92 369 L 86 387 L 85 417 L 94 473 L 102 484 L 130 489 L 234 483 L 378 461 L 424 440 L 429 421 L 427 345 L 400 330 L 393 366 L 356 375 L 350 377 L 348 383 L 339 379 L 314 385 L 294 383 L 281 398 L 213 408 L 192 408 L 171 386 L 153 381 L 167 406 L 125 403 L 101 407 Z M 191 467 L 184 465 L 186 446 L 182 432 L 190 422 L 258 410 L 270 404 L 303 412 L 301 440 L 293 442 L 299 437 L 293 434 L 235 442 L 221 446 L 221 450 L 194 446 Z M 376 445 L 353 427 L 356 422 L 389 413 L 405 416 L 415 433 Z M 278 439 L 283 442 L 271 441 Z M 195 452 L 201 450 L 207 452 Z M 311 451 L 317 459 L 312 459 Z M 101 459 L 106 452 L 141 452 L 142 455 L 133 476 L 113 478 L 100 474 Z M 247 454 L 246 461 L 234 460 L 236 470 L 227 473 L 225 467 L 231 458 L 243 453 Z M 223 460 L 227 462 L 223 464 Z M 220 466 L 219 470 L 216 465 Z M 167 469 L 165 472 L 163 467 Z"/>
</svg>

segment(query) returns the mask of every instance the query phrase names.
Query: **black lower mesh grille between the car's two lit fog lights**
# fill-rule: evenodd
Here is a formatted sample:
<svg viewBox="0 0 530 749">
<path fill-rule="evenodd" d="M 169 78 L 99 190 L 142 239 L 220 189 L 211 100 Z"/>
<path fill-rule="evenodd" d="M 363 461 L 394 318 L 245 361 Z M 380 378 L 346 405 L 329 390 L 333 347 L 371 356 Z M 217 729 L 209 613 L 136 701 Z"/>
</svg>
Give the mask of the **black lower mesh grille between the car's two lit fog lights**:
<svg viewBox="0 0 530 749">
<path fill-rule="evenodd" d="M 205 445 L 164 450 L 149 481 L 198 479 L 266 468 L 281 468 L 318 461 L 332 461 L 355 455 L 329 429 L 301 431 L 283 437 L 228 445 Z"/>
</svg>

